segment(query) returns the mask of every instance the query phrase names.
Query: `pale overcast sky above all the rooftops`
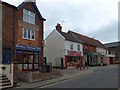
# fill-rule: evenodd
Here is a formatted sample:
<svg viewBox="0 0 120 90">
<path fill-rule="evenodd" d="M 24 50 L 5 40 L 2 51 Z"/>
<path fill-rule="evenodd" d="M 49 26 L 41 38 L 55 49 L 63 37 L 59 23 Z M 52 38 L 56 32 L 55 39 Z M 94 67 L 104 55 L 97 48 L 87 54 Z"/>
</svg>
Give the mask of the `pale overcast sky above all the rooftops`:
<svg viewBox="0 0 120 90">
<path fill-rule="evenodd" d="M 24 0 L 3 0 L 18 6 Z M 36 0 L 45 21 L 46 38 L 57 23 L 68 30 L 94 37 L 102 43 L 118 40 L 119 0 Z"/>
</svg>

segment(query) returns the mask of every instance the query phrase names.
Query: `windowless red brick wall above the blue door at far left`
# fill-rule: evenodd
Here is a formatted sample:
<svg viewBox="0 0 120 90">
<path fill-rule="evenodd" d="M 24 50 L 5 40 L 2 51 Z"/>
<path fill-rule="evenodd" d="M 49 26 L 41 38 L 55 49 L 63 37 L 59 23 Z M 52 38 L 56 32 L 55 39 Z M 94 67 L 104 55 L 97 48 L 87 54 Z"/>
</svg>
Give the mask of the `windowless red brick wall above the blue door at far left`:
<svg viewBox="0 0 120 90">
<path fill-rule="evenodd" d="M 2 46 L 13 48 L 14 31 L 14 8 L 2 4 Z"/>
</svg>

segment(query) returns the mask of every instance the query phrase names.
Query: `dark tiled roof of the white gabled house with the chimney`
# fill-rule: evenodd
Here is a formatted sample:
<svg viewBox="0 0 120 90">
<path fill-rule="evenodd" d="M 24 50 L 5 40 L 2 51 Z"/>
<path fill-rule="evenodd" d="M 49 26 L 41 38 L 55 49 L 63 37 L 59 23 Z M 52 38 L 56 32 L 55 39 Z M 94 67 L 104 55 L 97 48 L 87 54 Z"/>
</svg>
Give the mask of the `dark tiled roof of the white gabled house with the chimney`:
<svg viewBox="0 0 120 90">
<path fill-rule="evenodd" d="M 77 40 L 71 33 L 65 33 L 62 31 L 58 31 L 58 32 L 65 38 L 65 40 L 82 43 L 80 40 Z"/>
</svg>

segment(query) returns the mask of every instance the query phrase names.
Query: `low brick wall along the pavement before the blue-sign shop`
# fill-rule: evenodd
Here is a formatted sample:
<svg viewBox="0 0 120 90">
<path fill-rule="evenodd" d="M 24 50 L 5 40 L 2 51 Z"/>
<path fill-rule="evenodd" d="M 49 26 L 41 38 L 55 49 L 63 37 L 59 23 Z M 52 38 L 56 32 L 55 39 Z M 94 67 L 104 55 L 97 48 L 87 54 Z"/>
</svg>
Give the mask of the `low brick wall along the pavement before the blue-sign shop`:
<svg viewBox="0 0 120 90">
<path fill-rule="evenodd" d="M 27 72 L 27 71 L 22 71 L 17 73 L 17 78 L 21 81 L 25 82 L 34 82 L 34 81 L 39 81 L 39 80 L 46 80 L 54 77 L 59 77 L 62 76 L 63 74 L 60 73 L 57 70 L 53 70 L 52 72 Z"/>
</svg>

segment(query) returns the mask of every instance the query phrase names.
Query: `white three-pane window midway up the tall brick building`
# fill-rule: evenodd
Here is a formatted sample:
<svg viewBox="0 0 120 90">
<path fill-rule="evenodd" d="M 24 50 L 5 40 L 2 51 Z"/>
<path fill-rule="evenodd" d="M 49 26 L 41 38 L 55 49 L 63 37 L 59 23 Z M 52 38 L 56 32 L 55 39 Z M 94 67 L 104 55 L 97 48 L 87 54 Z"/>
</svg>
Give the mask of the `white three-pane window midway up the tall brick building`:
<svg viewBox="0 0 120 90">
<path fill-rule="evenodd" d="M 35 31 L 23 28 L 23 39 L 35 40 Z"/>
</svg>

